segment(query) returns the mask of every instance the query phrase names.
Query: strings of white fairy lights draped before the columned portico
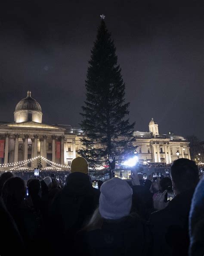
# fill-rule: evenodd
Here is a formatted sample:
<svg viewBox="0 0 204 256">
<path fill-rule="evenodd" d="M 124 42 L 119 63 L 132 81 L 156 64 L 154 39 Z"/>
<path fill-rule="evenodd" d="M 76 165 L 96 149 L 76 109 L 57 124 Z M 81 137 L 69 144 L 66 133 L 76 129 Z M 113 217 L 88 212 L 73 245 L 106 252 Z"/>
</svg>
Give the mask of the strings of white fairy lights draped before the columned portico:
<svg viewBox="0 0 204 256">
<path fill-rule="evenodd" d="M 5 163 L 5 164 L 3 163 L 3 164 L 0 164 L 0 167 L 2 167 L 2 168 L 3 167 L 11 167 L 11 169 L 9 169 L 9 170 L 20 170 L 20 169 L 25 168 L 25 166 L 26 166 L 26 169 L 27 169 L 28 163 L 31 163 L 35 160 L 39 160 L 40 158 L 41 158 L 42 161 L 49 164 L 50 167 L 54 167 L 57 170 L 61 170 L 62 168 L 69 168 L 68 165 L 55 163 L 55 162 L 53 162 L 51 160 L 48 160 L 48 159 L 46 159 L 45 157 L 42 157 L 42 156 L 33 157 L 33 158 L 30 158 L 30 159 L 15 162 L 15 163 Z M 46 170 L 46 167 L 43 168 L 43 169 Z"/>
</svg>

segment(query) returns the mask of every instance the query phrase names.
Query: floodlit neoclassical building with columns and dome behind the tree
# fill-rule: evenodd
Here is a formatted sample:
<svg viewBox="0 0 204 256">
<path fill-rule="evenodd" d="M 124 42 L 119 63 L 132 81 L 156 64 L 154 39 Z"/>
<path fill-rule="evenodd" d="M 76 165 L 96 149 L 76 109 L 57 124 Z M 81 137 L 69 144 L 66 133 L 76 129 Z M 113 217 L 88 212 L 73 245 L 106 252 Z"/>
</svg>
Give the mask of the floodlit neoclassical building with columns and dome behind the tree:
<svg viewBox="0 0 204 256">
<path fill-rule="evenodd" d="M 41 155 L 54 163 L 70 166 L 82 148 L 81 128 L 71 125 L 43 124 L 43 113 L 37 100 L 27 97 L 20 100 L 15 107 L 14 122 L 0 122 L 0 163 L 25 161 L 25 167 L 37 167 L 38 160 L 27 162 L 30 158 Z M 182 136 L 159 134 L 158 124 L 153 120 L 149 123 L 149 131 L 135 131 L 135 142 L 139 161 L 171 163 L 179 157 L 190 159 L 189 142 Z M 42 161 L 43 167 L 47 165 Z"/>
</svg>

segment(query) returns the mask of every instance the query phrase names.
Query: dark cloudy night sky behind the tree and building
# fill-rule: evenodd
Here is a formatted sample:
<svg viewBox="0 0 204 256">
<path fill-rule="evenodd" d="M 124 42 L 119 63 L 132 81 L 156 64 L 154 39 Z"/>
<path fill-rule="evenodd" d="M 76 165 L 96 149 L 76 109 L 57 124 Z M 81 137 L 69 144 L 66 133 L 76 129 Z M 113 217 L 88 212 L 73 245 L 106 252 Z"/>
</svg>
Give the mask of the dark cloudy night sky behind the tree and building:
<svg viewBox="0 0 204 256">
<path fill-rule="evenodd" d="M 135 130 L 204 139 L 203 20 L 197 0 L 19 0 L 0 6 L 0 121 L 31 90 L 43 122 L 79 127 L 100 14 L 117 48 Z M 7 2 L 7 3 L 6 3 Z"/>
</svg>

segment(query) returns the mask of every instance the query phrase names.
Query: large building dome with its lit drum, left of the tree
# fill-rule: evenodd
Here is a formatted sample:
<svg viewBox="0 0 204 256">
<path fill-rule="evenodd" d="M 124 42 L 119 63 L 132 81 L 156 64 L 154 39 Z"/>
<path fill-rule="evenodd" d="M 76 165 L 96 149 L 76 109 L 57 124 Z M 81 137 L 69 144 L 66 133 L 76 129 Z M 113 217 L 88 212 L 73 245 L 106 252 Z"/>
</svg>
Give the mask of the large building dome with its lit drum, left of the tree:
<svg viewBox="0 0 204 256">
<path fill-rule="evenodd" d="M 31 97 L 31 91 L 27 92 L 27 97 L 20 100 L 15 107 L 14 122 L 37 122 L 42 123 L 42 109 L 36 99 Z"/>
</svg>

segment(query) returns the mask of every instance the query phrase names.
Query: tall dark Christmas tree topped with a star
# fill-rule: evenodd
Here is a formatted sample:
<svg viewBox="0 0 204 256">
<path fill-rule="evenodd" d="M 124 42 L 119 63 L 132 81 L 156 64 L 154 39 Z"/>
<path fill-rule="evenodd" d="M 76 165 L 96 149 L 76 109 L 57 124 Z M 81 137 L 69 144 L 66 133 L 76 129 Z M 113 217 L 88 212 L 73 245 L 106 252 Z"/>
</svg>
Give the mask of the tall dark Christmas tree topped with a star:
<svg viewBox="0 0 204 256">
<path fill-rule="evenodd" d="M 107 163 L 114 154 L 117 161 L 133 153 L 134 123 L 127 115 L 130 103 L 125 103 L 125 84 L 117 64 L 116 48 L 101 16 L 96 42 L 87 70 L 86 101 L 82 107 L 81 127 L 85 136 L 78 153 L 91 164 Z"/>
</svg>

